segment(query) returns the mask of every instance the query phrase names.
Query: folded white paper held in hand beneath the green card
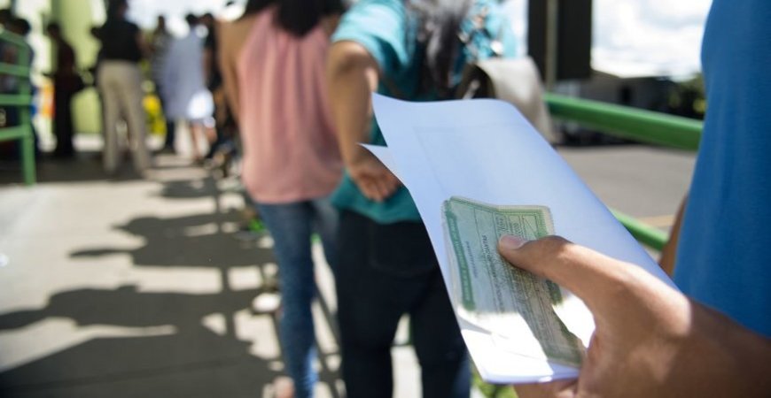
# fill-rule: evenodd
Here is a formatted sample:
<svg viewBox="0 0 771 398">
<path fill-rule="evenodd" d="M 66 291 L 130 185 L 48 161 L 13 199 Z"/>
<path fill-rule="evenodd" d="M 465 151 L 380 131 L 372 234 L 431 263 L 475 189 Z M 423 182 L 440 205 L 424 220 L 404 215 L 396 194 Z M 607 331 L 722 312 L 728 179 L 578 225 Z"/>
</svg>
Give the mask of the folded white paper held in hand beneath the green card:
<svg viewBox="0 0 771 398">
<path fill-rule="evenodd" d="M 366 147 L 409 189 L 446 286 L 450 286 L 448 251 L 440 211 L 442 202 L 456 195 L 500 205 L 547 206 L 558 235 L 637 264 L 674 287 L 624 226 L 509 103 L 408 103 L 379 95 L 373 96 L 373 103 L 388 148 Z M 579 306 L 559 315 L 572 333 L 588 344 L 593 326 L 570 319 L 590 318 L 588 310 Z M 474 363 L 488 382 L 547 381 L 578 375 L 572 367 L 507 352 L 490 333 L 458 320 Z"/>
</svg>

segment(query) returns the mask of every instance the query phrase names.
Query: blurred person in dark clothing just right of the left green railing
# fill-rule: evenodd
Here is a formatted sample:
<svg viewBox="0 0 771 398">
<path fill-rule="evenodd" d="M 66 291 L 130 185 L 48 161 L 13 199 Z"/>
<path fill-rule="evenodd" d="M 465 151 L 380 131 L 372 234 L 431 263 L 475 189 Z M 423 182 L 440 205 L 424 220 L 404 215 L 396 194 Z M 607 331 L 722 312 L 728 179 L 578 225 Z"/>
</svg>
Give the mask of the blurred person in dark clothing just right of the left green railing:
<svg viewBox="0 0 771 398">
<path fill-rule="evenodd" d="M 54 157 L 74 157 L 72 101 L 83 88 L 83 80 L 75 70 L 75 51 L 62 34 L 58 23 L 46 29 L 56 46 L 56 72 L 53 73 L 53 131 L 56 136 Z"/>
</svg>

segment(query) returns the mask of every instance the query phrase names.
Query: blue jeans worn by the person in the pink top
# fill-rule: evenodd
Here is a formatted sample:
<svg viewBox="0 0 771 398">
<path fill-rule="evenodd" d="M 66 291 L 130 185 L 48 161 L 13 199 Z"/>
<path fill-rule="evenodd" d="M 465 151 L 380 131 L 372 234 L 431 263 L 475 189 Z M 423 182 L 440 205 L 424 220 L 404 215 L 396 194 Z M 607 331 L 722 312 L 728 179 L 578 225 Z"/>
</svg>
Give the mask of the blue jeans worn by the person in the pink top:
<svg viewBox="0 0 771 398">
<path fill-rule="evenodd" d="M 283 307 L 278 337 L 284 364 L 294 381 L 294 396 L 311 397 L 318 376 L 313 369 L 315 333 L 311 302 L 316 287 L 310 239 L 314 232 L 321 236 L 327 263 L 334 266 L 338 212 L 327 199 L 258 203 L 257 208 L 273 236 L 278 263 Z"/>
</svg>

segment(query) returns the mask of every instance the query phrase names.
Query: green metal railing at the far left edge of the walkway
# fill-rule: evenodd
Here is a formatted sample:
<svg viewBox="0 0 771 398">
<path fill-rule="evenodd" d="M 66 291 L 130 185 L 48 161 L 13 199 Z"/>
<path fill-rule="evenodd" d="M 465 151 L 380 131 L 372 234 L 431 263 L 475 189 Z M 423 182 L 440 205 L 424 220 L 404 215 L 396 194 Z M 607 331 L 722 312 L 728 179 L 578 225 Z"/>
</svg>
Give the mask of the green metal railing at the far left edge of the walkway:
<svg viewBox="0 0 771 398">
<path fill-rule="evenodd" d="M 16 64 L 0 62 L 0 76 L 17 78 L 15 93 L 0 95 L 0 107 L 19 107 L 19 125 L 0 128 L 0 142 L 19 140 L 21 142 L 21 168 L 24 182 L 35 184 L 35 137 L 32 132 L 32 119 L 29 116 L 29 106 L 32 104 L 29 82 L 30 50 L 27 42 L 17 35 L 0 30 L 0 42 L 4 46 L 12 46 L 16 50 Z"/>
</svg>

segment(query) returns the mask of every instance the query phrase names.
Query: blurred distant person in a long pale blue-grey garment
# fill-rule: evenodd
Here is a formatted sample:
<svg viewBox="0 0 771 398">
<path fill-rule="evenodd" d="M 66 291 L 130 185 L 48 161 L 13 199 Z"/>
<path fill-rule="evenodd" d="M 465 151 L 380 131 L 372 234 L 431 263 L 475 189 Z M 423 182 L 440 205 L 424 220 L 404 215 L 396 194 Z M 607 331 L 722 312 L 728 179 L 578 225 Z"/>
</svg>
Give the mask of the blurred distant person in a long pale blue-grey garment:
<svg viewBox="0 0 771 398">
<path fill-rule="evenodd" d="M 184 19 L 190 31 L 169 45 L 160 79 L 163 81 L 161 95 L 166 105 L 166 117 L 184 120 L 187 124 L 193 161 L 198 164 L 203 161 L 199 144 L 206 141 L 204 123 L 212 117 L 214 103 L 212 94 L 206 89 L 203 38 L 198 32 L 199 18 L 188 14 Z"/>
</svg>

